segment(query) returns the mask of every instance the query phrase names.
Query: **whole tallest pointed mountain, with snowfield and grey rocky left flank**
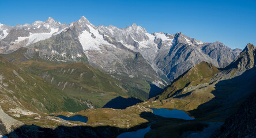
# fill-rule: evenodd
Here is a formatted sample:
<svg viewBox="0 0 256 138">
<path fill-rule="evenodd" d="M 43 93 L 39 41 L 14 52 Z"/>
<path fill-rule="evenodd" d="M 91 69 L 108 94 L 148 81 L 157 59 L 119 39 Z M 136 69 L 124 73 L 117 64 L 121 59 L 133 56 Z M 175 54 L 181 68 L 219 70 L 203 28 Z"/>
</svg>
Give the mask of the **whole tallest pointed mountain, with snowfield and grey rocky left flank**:
<svg viewBox="0 0 256 138">
<path fill-rule="evenodd" d="M 123 83 L 128 83 L 133 91 L 140 91 L 140 94 L 132 95 L 141 99 L 148 99 L 151 84 L 164 86 L 159 75 L 141 53 L 126 48 L 107 35 L 99 34 L 96 28 L 82 17 L 59 34 L 29 45 L 25 56 L 29 59 L 36 56 L 57 62 L 89 63 Z M 137 87 L 138 82 L 143 83 L 140 88 Z"/>
</svg>

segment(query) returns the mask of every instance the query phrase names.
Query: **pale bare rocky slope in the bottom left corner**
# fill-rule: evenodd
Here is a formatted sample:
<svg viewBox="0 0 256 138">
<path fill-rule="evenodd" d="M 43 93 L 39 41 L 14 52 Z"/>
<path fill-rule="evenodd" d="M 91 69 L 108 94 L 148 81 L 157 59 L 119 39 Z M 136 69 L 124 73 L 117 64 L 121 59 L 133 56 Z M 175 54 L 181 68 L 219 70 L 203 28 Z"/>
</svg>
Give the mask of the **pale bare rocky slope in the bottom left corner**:
<svg viewBox="0 0 256 138">
<path fill-rule="evenodd" d="M 3 112 L 0 106 L 0 135 L 4 136 L 7 133 L 14 131 L 14 129 L 21 127 L 22 125 L 24 125 L 22 122 L 15 120 Z"/>
</svg>

